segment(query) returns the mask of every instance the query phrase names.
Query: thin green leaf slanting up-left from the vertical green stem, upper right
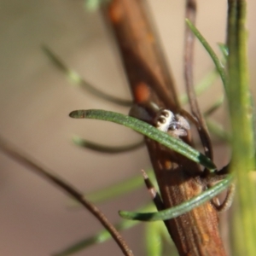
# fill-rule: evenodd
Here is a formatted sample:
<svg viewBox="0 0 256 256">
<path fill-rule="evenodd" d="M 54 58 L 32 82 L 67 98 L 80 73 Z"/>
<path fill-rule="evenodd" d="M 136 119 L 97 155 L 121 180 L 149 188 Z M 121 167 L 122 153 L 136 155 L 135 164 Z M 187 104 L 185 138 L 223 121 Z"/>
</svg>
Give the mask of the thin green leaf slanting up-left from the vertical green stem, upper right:
<svg viewBox="0 0 256 256">
<path fill-rule="evenodd" d="M 218 59 L 218 56 L 213 51 L 210 44 L 207 43 L 207 40 L 201 35 L 201 32 L 197 30 L 197 28 L 188 20 L 186 19 L 186 22 L 191 29 L 191 31 L 194 33 L 195 37 L 198 38 L 198 40 L 201 42 L 201 44 L 204 46 L 204 48 L 207 50 L 208 54 L 211 56 L 212 61 L 215 64 L 216 69 L 218 70 L 218 73 L 220 75 L 220 78 L 222 79 L 222 82 L 224 84 L 224 88 L 226 88 L 226 74 L 224 70 L 223 63 Z"/>
</svg>

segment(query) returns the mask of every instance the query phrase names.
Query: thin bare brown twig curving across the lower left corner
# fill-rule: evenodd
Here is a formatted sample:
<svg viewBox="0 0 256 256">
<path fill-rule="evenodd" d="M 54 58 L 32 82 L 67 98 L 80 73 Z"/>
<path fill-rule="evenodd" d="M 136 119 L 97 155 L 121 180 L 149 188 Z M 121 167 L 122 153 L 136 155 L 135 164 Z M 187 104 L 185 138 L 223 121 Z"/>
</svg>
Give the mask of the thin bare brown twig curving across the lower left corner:
<svg viewBox="0 0 256 256">
<path fill-rule="evenodd" d="M 106 230 L 108 230 L 111 236 L 113 236 L 114 241 L 116 241 L 116 243 L 119 245 L 124 255 L 133 255 L 131 249 L 128 247 L 125 240 L 120 236 L 118 230 L 115 229 L 113 224 L 109 222 L 108 218 L 106 218 L 105 215 L 96 206 L 84 198 L 84 195 L 79 192 L 78 189 L 73 188 L 73 186 L 61 179 L 61 177 L 57 177 L 55 174 L 53 174 L 53 172 L 50 172 L 45 167 L 38 165 L 34 160 L 32 160 L 30 156 L 21 153 L 19 149 L 6 142 L 2 137 L 0 137 L 0 149 L 2 149 L 3 153 L 7 154 L 15 161 L 20 162 L 21 165 L 28 167 L 32 170 L 32 172 L 35 172 L 47 179 L 49 182 L 54 183 L 57 187 L 63 189 L 67 195 L 71 195 L 76 201 L 79 201 L 81 205 L 83 205 L 100 221 L 100 223 L 106 228 Z"/>
</svg>

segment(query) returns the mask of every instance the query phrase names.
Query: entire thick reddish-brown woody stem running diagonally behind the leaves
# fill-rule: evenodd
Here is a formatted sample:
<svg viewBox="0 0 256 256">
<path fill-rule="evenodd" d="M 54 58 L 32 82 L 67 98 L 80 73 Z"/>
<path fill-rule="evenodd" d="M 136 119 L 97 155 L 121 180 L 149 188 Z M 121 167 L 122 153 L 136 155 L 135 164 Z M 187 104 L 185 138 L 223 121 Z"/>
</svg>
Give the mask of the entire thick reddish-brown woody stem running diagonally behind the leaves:
<svg viewBox="0 0 256 256">
<path fill-rule="evenodd" d="M 103 9 L 106 23 L 113 28 L 134 101 L 144 108 L 154 103 L 178 113 L 181 109 L 172 76 L 146 13 L 142 0 L 113 0 Z M 145 113 L 149 113 L 147 109 Z M 159 143 L 148 138 L 145 141 L 165 208 L 205 189 L 199 166 Z M 191 144 L 189 137 L 185 142 Z M 225 255 L 217 212 L 210 202 L 165 224 L 180 255 Z"/>
</svg>

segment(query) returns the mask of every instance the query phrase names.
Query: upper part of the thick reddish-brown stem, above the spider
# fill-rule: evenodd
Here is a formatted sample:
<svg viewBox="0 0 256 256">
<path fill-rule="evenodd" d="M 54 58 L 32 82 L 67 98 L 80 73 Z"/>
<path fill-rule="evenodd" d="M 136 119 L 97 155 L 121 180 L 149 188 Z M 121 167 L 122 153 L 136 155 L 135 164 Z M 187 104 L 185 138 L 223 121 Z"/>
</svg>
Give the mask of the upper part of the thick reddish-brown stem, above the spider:
<svg viewBox="0 0 256 256">
<path fill-rule="evenodd" d="M 172 76 L 145 8 L 144 1 L 113 0 L 103 15 L 113 27 L 135 101 L 154 98 L 160 107 L 177 112 Z M 148 97 L 141 99 L 142 94 Z"/>
</svg>

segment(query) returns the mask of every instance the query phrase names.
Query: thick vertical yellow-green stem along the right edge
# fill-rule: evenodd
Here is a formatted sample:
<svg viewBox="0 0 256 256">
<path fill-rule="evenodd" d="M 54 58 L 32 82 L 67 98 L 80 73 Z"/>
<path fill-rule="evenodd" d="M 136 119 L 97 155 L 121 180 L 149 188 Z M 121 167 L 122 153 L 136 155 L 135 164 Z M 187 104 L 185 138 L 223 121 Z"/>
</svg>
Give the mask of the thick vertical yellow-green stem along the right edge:
<svg viewBox="0 0 256 256">
<path fill-rule="evenodd" d="M 249 176 L 254 152 L 253 108 L 247 61 L 246 1 L 229 2 L 227 98 L 232 129 L 231 172 L 236 173 L 236 212 L 232 225 L 233 255 L 255 255 L 256 188 Z"/>
</svg>

